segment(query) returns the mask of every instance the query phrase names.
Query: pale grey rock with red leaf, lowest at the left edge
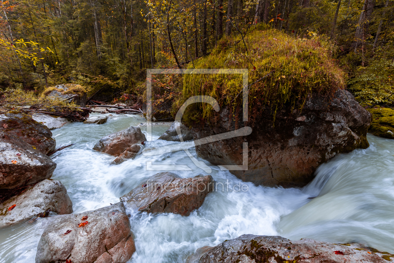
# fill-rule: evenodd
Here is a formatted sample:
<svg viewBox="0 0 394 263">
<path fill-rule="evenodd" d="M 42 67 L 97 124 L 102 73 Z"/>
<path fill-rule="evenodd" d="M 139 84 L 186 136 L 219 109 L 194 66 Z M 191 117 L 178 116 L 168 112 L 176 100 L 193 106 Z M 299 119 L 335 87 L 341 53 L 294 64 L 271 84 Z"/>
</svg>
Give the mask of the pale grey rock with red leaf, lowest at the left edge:
<svg viewBox="0 0 394 263">
<path fill-rule="evenodd" d="M 0 204 L 0 227 L 22 222 L 46 211 L 59 215 L 72 213 L 72 202 L 60 181 L 45 179 L 26 189 Z M 13 205 L 15 207 L 8 211 Z"/>
</svg>

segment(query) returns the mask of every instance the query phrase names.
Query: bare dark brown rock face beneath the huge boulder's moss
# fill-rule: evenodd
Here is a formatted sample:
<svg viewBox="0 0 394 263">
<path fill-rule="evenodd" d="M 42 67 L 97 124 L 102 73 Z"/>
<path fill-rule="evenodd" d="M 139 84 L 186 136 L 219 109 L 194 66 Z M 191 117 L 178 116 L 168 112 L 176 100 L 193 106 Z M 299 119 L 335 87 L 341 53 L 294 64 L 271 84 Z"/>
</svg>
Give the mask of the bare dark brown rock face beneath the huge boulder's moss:
<svg viewBox="0 0 394 263">
<path fill-rule="evenodd" d="M 203 126 L 195 124 L 195 140 L 234 131 L 235 127 L 251 126 L 252 133 L 197 145 L 197 154 L 216 165 L 242 165 L 243 143 L 247 142 L 248 170 L 231 173 L 256 185 L 293 187 L 310 182 L 316 168 L 338 153 L 369 146 L 366 132 L 371 114 L 348 91 L 337 90 L 331 101 L 313 94 L 301 112 L 299 106 L 296 103 L 293 111 L 288 104 L 278 109 L 275 125 L 275 109 L 269 106 L 249 112 L 253 123 L 243 123 L 242 115 L 235 123 L 229 109 L 222 108 L 216 120 L 206 121 Z"/>
</svg>

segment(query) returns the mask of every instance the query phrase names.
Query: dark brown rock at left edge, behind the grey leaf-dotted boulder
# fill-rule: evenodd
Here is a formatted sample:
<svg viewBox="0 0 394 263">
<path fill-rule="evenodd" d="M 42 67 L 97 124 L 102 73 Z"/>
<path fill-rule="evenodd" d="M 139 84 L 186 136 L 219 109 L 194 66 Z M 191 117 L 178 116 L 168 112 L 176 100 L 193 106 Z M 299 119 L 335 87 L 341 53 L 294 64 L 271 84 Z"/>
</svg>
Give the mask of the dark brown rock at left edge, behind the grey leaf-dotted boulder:
<svg viewBox="0 0 394 263">
<path fill-rule="evenodd" d="M 22 114 L 0 115 L 0 131 L 13 140 L 23 140 L 43 154 L 50 153 L 56 147 L 56 141 L 52 138 L 52 132 L 48 127 L 29 116 Z"/>
</svg>

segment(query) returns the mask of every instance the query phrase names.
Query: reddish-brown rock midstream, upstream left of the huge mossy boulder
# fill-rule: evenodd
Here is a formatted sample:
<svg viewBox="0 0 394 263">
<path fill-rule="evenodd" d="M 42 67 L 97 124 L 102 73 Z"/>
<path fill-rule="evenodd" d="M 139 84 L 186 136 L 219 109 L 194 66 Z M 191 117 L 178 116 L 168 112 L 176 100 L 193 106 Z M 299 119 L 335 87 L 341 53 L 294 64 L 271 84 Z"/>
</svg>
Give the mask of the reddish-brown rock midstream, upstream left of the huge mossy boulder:
<svg viewBox="0 0 394 263">
<path fill-rule="evenodd" d="M 130 126 L 125 130 L 102 137 L 93 147 L 93 150 L 108 153 L 113 156 L 119 156 L 131 145 L 146 140 L 145 134 L 141 132 L 139 127 Z"/>
</svg>

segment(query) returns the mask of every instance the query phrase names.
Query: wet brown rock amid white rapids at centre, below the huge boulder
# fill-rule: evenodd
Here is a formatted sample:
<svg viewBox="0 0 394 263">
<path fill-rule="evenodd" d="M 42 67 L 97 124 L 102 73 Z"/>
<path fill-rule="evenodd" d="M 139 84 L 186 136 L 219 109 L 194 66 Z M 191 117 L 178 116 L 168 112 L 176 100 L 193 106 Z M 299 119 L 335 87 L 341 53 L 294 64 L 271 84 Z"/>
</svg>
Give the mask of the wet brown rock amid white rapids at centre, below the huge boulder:
<svg viewBox="0 0 394 263">
<path fill-rule="evenodd" d="M 212 192 L 214 179 L 210 175 L 180 178 L 170 172 L 157 173 L 143 181 L 120 200 L 133 209 L 147 213 L 174 213 L 190 215 Z M 197 190 L 198 189 L 198 190 Z"/>
</svg>

